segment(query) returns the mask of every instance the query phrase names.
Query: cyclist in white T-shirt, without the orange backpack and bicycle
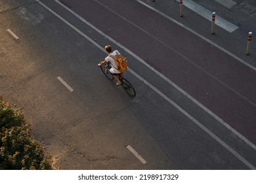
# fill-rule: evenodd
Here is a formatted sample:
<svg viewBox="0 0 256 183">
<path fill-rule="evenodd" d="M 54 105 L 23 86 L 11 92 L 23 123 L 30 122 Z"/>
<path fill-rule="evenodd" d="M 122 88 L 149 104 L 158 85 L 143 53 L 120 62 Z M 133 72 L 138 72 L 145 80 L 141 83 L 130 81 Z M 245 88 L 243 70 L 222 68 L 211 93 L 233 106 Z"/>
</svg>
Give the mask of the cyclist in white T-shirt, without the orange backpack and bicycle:
<svg viewBox="0 0 256 183">
<path fill-rule="evenodd" d="M 110 66 L 112 67 L 110 69 L 110 74 L 113 76 L 114 80 L 117 81 L 116 86 L 119 86 L 121 84 L 121 81 L 119 80 L 117 75 L 121 74 L 121 78 L 122 78 L 123 77 L 123 73 L 117 71 L 117 64 L 116 64 L 115 59 L 109 56 L 109 55 L 116 56 L 116 52 L 118 52 L 118 51 L 115 50 L 114 52 L 112 52 L 112 48 L 111 48 L 110 45 L 106 45 L 105 46 L 105 50 L 106 50 L 108 56 L 104 59 L 104 61 L 100 61 L 100 63 L 98 63 L 98 67 L 109 62 Z"/>
</svg>

